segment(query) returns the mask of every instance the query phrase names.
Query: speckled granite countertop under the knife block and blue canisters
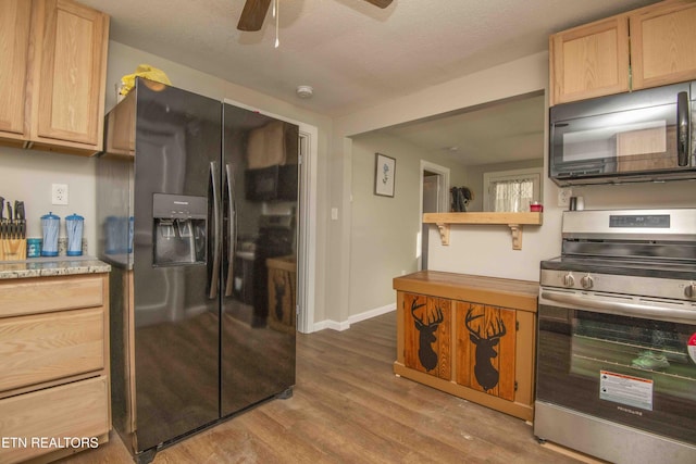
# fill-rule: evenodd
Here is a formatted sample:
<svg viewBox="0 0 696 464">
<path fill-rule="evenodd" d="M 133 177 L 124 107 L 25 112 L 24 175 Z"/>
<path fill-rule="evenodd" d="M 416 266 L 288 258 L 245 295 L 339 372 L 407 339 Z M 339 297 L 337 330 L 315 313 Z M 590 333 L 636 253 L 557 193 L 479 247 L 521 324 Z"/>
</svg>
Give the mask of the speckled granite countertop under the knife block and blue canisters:
<svg viewBox="0 0 696 464">
<path fill-rule="evenodd" d="M 100 274 L 111 265 L 94 256 L 35 258 L 27 261 L 0 261 L 0 279 Z"/>
</svg>

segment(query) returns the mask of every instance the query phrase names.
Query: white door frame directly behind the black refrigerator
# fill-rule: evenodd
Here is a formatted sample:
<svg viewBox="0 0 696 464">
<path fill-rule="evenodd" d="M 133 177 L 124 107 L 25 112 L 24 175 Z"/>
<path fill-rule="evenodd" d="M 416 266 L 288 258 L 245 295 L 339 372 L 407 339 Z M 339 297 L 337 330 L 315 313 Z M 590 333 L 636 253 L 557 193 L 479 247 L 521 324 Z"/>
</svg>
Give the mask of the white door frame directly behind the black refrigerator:
<svg viewBox="0 0 696 464">
<path fill-rule="evenodd" d="M 276 120 L 296 124 L 300 128 L 300 192 L 297 253 L 297 330 L 302 334 L 313 331 L 316 281 L 316 160 L 319 156 L 319 128 L 287 116 L 274 114 L 225 98 L 224 103 L 244 108 Z M 301 284 L 300 284 L 301 283 Z"/>
</svg>

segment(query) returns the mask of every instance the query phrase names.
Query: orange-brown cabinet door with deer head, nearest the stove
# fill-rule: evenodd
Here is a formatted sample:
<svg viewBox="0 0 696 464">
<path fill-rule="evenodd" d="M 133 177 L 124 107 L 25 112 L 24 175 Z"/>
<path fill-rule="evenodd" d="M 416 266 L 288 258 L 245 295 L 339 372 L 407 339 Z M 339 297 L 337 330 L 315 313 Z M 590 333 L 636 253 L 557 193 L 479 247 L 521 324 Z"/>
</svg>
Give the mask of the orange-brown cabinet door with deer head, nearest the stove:
<svg viewBox="0 0 696 464">
<path fill-rule="evenodd" d="M 457 384 L 514 400 L 514 310 L 458 301 Z"/>
</svg>

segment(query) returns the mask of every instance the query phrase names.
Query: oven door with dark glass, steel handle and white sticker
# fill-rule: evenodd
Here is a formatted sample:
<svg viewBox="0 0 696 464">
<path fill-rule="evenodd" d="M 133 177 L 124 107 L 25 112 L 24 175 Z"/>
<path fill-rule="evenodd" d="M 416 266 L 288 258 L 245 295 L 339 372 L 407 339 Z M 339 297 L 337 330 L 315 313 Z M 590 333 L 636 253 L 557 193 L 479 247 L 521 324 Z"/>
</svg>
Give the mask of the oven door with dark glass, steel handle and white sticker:
<svg viewBox="0 0 696 464">
<path fill-rule="evenodd" d="M 537 401 L 696 444 L 696 306 L 542 288 Z"/>
</svg>

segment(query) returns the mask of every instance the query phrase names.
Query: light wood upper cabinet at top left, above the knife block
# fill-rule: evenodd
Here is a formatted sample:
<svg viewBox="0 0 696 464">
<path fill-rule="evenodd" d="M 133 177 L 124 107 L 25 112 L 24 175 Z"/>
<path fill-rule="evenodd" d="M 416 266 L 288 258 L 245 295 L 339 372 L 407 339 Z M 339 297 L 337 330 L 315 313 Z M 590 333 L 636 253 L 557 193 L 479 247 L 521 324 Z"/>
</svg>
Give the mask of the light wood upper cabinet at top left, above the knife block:
<svg viewBox="0 0 696 464">
<path fill-rule="evenodd" d="M 0 139 L 101 151 L 109 16 L 70 0 L 0 2 Z"/>
</svg>

